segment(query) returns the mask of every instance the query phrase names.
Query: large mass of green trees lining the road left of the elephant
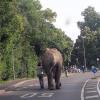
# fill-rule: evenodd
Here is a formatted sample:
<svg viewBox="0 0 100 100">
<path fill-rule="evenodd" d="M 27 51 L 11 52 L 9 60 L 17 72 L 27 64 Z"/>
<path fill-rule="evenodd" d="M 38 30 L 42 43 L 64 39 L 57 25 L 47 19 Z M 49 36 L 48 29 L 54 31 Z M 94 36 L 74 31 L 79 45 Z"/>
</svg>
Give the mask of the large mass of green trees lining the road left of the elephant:
<svg viewBox="0 0 100 100">
<path fill-rule="evenodd" d="M 59 49 L 68 61 L 73 42 L 52 24 L 55 19 L 38 0 L 0 1 L 0 79 L 35 77 L 46 47 Z"/>
</svg>

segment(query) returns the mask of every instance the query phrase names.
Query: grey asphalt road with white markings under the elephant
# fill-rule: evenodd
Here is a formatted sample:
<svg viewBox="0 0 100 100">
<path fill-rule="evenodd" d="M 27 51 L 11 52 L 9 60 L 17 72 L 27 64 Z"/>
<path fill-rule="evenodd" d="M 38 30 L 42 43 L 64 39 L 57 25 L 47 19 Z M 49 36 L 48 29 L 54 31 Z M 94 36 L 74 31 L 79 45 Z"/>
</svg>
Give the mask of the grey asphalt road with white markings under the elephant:
<svg viewBox="0 0 100 100">
<path fill-rule="evenodd" d="M 96 74 L 99 75 L 100 72 Z M 92 77 L 92 73 L 63 76 L 60 90 L 48 90 L 46 79 L 44 90 L 40 89 L 38 80 L 23 81 L 2 90 L 0 100 L 100 100 L 100 79 Z"/>
</svg>

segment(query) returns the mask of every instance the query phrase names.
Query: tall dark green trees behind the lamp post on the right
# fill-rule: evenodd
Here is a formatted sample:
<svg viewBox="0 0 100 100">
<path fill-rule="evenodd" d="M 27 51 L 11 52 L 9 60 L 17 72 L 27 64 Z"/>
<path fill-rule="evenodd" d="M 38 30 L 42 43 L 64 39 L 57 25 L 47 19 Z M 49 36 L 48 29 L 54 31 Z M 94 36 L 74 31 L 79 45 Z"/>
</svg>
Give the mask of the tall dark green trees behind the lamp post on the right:
<svg viewBox="0 0 100 100">
<path fill-rule="evenodd" d="M 75 43 L 74 56 L 72 58 L 74 64 L 76 63 L 76 58 L 78 58 L 80 65 L 84 64 L 82 37 L 85 36 L 84 45 L 87 67 L 89 68 L 91 65 L 98 66 L 97 58 L 100 58 L 100 14 L 93 7 L 88 7 L 82 12 L 82 16 L 84 16 L 84 21 L 78 22 L 81 34 Z"/>
</svg>

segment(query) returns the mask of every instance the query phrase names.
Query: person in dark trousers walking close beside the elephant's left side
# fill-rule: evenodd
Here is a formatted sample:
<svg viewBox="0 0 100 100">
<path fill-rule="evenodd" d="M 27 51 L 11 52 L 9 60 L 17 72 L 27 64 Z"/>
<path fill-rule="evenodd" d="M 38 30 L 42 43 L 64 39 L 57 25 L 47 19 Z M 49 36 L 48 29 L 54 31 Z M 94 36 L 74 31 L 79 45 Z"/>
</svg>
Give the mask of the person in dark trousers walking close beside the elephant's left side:
<svg viewBox="0 0 100 100">
<path fill-rule="evenodd" d="M 43 80 L 44 72 L 43 72 L 42 64 L 40 62 L 38 63 L 38 66 L 37 66 L 37 77 L 39 79 L 40 87 L 41 89 L 43 89 L 44 88 L 44 80 Z"/>
</svg>

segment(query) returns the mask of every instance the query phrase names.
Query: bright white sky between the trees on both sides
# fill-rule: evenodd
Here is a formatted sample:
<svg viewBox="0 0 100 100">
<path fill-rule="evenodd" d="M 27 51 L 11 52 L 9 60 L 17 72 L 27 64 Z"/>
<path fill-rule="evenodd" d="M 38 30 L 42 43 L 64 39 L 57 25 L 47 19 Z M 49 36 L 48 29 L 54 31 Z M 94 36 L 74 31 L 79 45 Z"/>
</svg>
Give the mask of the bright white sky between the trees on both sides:
<svg viewBox="0 0 100 100">
<path fill-rule="evenodd" d="M 54 25 L 61 28 L 74 42 L 80 35 L 78 21 L 83 21 L 81 12 L 88 6 L 100 12 L 100 0 L 39 0 L 44 9 L 50 8 L 57 13 Z"/>
</svg>

